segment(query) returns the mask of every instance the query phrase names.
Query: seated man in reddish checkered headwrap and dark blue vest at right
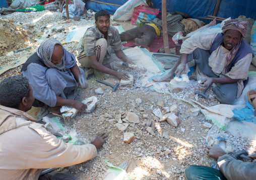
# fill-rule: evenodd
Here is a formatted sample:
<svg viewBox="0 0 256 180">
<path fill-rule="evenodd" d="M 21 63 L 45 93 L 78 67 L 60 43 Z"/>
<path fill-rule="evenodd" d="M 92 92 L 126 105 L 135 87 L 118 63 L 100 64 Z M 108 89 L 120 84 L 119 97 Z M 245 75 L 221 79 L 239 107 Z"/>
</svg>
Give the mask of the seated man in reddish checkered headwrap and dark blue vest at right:
<svg viewBox="0 0 256 180">
<path fill-rule="evenodd" d="M 248 22 L 226 21 L 222 33 L 190 37 L 181 45 L 176 65 L 162 77 L 154 81 L 170 81 L 174 74 L 185 73 L 187 62 L 195 59 L 197 80 L 200 86 L 215 83 L 213 92 L 223 104 L 232 104 L 242 93 L 248 81 L 248 69 L 253 52 L 243 40 Z"/>
</svg>

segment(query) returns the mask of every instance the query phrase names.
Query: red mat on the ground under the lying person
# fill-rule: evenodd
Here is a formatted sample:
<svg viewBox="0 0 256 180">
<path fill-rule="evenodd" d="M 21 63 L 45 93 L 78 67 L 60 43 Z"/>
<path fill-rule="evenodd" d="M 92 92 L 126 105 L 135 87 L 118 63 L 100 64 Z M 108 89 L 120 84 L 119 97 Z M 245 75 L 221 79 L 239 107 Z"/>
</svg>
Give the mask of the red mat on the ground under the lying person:
<svg viewBox="0 0 256 180">
<path fill-rule="evenodd" d="M 169 48 L 175 48 L 175 43 L 172 41 L 172 36 L 168 35 L 168 42 Z M 141 45 L 134 45 L 135 41 L 130 40 L 127 43 L 122 44 L 123 46 L 141 46 Z M 159 49 L 164 48 L 164 40 L 163 37 L 156 37 L 153 43 L 148 47 L 150 52 L 157 53 Z"/>
</svg>

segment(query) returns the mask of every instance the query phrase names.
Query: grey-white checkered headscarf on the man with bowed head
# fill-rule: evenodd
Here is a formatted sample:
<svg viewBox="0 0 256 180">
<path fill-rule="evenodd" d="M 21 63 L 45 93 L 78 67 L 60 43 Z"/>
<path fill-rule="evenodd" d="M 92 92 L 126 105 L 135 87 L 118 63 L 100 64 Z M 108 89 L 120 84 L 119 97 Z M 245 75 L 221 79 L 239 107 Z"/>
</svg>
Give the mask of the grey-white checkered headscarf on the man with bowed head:
<svg viewBox="0 0 256 180">
<path fill-rule="evenodd" d="M 36 49 L 36 53 L 37 55 L 43 60 L 44 64 L 48 67 L 48 68 L 55 68 L 57 70 L 63 71 L 65 70 L 65 52 L 63 52 L 63 57 L 61 58 L 61 62 L 58 64 L 53 64 L 51 62 L 51 56 L 54 50 L 54 46 L 56 44 L 59 44 L 62 48 L 63 46 L 61 45 L 61 43 L 53 38 L 44 40 L 41 45 L 39 46 L 39 48 Z M 64 48 L 63 48 L 64 51 Z"/>
</svg>

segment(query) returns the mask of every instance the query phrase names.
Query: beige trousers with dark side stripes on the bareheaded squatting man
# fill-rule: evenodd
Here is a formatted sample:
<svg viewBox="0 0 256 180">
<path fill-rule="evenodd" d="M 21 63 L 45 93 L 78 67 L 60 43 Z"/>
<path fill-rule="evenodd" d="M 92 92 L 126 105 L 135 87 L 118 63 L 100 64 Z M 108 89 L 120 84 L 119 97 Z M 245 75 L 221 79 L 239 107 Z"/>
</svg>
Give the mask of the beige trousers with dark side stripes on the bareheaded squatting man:
<svg viewBox="0 0 256 180">
<path fill-rule="evenodd" d="M 115 71 L 123 68 L 123 66 L 120 64 L 120 62 L 122 62 L 122 60 L 117 58 L 115 53 L 112 53 L 111 55 L 106 56 L 106 52 L 107 52 L 107 40 L 106 39 L 101 38 L 101 39 L 97 40 L 95 42 L 94 50 L 96 52 L 97 61 L 100 64 L 102 64 L 102 65 L 109 64 L 111 69 L 115 70 Z M 89 61 L 89 58 L 85 54 L 78 56 L 77 59 L 78 59 L 78 62 L 82 66 L 84 66 L 86 68 L 92 67 L 91 63 Z"/>
</svg>

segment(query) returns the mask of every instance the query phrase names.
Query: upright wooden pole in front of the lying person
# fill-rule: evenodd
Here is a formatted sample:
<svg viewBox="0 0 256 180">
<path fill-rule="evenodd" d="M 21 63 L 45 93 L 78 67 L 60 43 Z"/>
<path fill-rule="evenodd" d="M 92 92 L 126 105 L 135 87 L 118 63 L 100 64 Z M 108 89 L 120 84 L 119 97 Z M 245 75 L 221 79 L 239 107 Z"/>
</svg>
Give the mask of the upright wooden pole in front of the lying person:
<svg viewBox="0 0 256 180">
<path fill-rule="evenodd" d="M 166 0 L 162 0 L 162 26 L 163 26 L 163 39 L 165 53 L 170 54 L 166 21 Z"/>
</svg>

